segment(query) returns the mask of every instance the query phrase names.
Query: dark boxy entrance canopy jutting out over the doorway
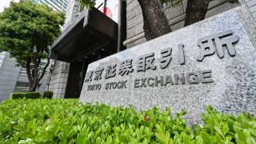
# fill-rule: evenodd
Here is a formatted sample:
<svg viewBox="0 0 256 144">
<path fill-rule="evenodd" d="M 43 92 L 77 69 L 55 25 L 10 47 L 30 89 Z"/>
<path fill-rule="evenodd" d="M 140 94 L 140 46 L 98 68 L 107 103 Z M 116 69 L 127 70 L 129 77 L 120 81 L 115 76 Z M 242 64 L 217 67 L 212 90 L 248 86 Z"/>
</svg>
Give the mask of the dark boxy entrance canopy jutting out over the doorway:
<svg viewBox="0 0 256 144">
<path fill-rule="evenodd" d="M 52 44 L 50 58 L 74 62 L 116 48 L 118 24 L 101 11 L 83 10 Z M 110 49 L 110 50 L 109 50 Z"/>
</svg>

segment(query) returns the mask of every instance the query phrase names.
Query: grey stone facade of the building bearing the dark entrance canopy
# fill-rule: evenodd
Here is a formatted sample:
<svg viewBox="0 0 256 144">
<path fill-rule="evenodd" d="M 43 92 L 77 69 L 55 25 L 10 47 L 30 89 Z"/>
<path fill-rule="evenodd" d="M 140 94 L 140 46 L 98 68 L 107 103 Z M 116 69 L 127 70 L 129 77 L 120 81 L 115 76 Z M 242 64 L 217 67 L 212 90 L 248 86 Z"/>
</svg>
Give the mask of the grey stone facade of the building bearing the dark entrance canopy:
<svg viewBox="0 0 256 144">
<path fill-rule="evenodd" d="M 107 1 L 106 1 L 107 2 Z M 175 7 L 164 5 L 166 18 L 168 19 L 171 29 L 178 30 L 184 26 L 185 11 L 187 0 Z M 226 10 L 233 9 L 236 6 L 246 5 L 250 10 L 251 16 L 256 18 L 256 0 L 214 0 L 210 2 L 206 18 L 210 18 L 216 14 L 220 14 Z M 66 11 L 66 23 L 72 24 L 75 22 L 81 10 L 79 3 L 75 0 L 70 0 Z M 120 21 L 118 21 L 120 22 Z M 120 23 L 119 23 L 120 24 Z M 70 26 L 70 25 L 67 25 Z M 143 30 L 142 10 L 137 0 L 126 1 L 126 40 L 123 45 L 126 48 L 137 46 L 146 42 Z M 87 58 L 87 57 L 86 57 Z M 90 60 L 88 60 L 90 61 Z M 50 90 L 54 91 L 54 98 L 78 98 L 78 95 L 67 95 L 69 92 L 66 89 L 69 86 L 70 62 L 55 61 L 53 76 L 50 81 Z M 85 72 L 83 73 L 85 75 Z M 82 79 L 83 82 L 84 79 Z"/>
</svg>

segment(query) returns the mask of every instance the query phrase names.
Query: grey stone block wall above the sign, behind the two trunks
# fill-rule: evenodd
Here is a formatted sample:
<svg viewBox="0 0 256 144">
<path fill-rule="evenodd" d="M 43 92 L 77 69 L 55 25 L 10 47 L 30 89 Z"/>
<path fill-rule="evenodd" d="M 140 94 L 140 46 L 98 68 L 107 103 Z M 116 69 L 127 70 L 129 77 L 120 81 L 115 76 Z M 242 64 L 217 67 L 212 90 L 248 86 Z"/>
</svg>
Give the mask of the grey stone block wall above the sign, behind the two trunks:
<svg viewBox="0 0 256 144">
<path fill-rule="evenodd" d="M 166 18 L 168 19 L 169 25 L 173 31 L 178 30 L 184 26 L 186 3 L 187 0 L 183 0 L 183 2 L 178 6 L 171 7 L 170 4 L 165 4 L 163 6 Z M 230 3 L 228 0 L 211 1 L 208 7 L 206 18 L 209 18 L 215 14 L 222 13 L 226 10 L 230 10 L 236 6 L 240 6 L 240 3 Z M 143 30 L 142 9 L 138 4 L 138 0 L 127 0 L 126 10 L 127 39 L 124 42 L 124 45 L 126 45 L 127 48 L 130 48 L 142 42 L 146 42 L 146 38 L 144 37 Z"/>
</svg>

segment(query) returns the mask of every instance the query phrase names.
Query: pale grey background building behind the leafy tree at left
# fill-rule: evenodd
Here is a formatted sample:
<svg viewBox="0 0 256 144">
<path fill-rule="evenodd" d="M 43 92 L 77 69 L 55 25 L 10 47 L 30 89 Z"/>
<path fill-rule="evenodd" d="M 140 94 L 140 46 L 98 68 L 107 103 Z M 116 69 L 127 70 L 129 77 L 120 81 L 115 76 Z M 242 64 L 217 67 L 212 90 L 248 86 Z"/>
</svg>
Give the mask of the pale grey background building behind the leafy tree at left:
<svg viewBox="0 0 256 144">
<path fill-rule="evenodd" d="M 34 0 L 38 3 L 45 3 L 54 10 L 66 11 L 67 0 Z M 46 60 L 42 61 L 42 66 Z M 50 83 L 50 66 L 46 74 L 38 84 L 37 91 L 42 93 L 48 90 Z M 28 78 L 26 68 L 16 66 L 14 58 L 9 57 L 8 52 L 0 53 L 0 102 L 9 98 L 13 92 L 25 92 L 28 89 Z"/>
</svg>

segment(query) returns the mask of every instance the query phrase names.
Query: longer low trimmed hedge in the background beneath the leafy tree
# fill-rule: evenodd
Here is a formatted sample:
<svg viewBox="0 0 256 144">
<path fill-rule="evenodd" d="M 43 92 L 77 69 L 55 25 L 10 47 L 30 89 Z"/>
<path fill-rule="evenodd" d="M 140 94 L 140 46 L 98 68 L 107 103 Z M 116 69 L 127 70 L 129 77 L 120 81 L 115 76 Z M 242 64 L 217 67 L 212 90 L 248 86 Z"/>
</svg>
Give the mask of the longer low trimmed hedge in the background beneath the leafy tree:
<svg viewBox="0 0 256 144">
<path fill-rule="evenodd" d="M 18 99 L 18 98 L 42 98 L 42 95 L 38 92 L 29 92 L 29 93 L 13 93 L 10 94 L 11 99 Z"/>
</svg>

